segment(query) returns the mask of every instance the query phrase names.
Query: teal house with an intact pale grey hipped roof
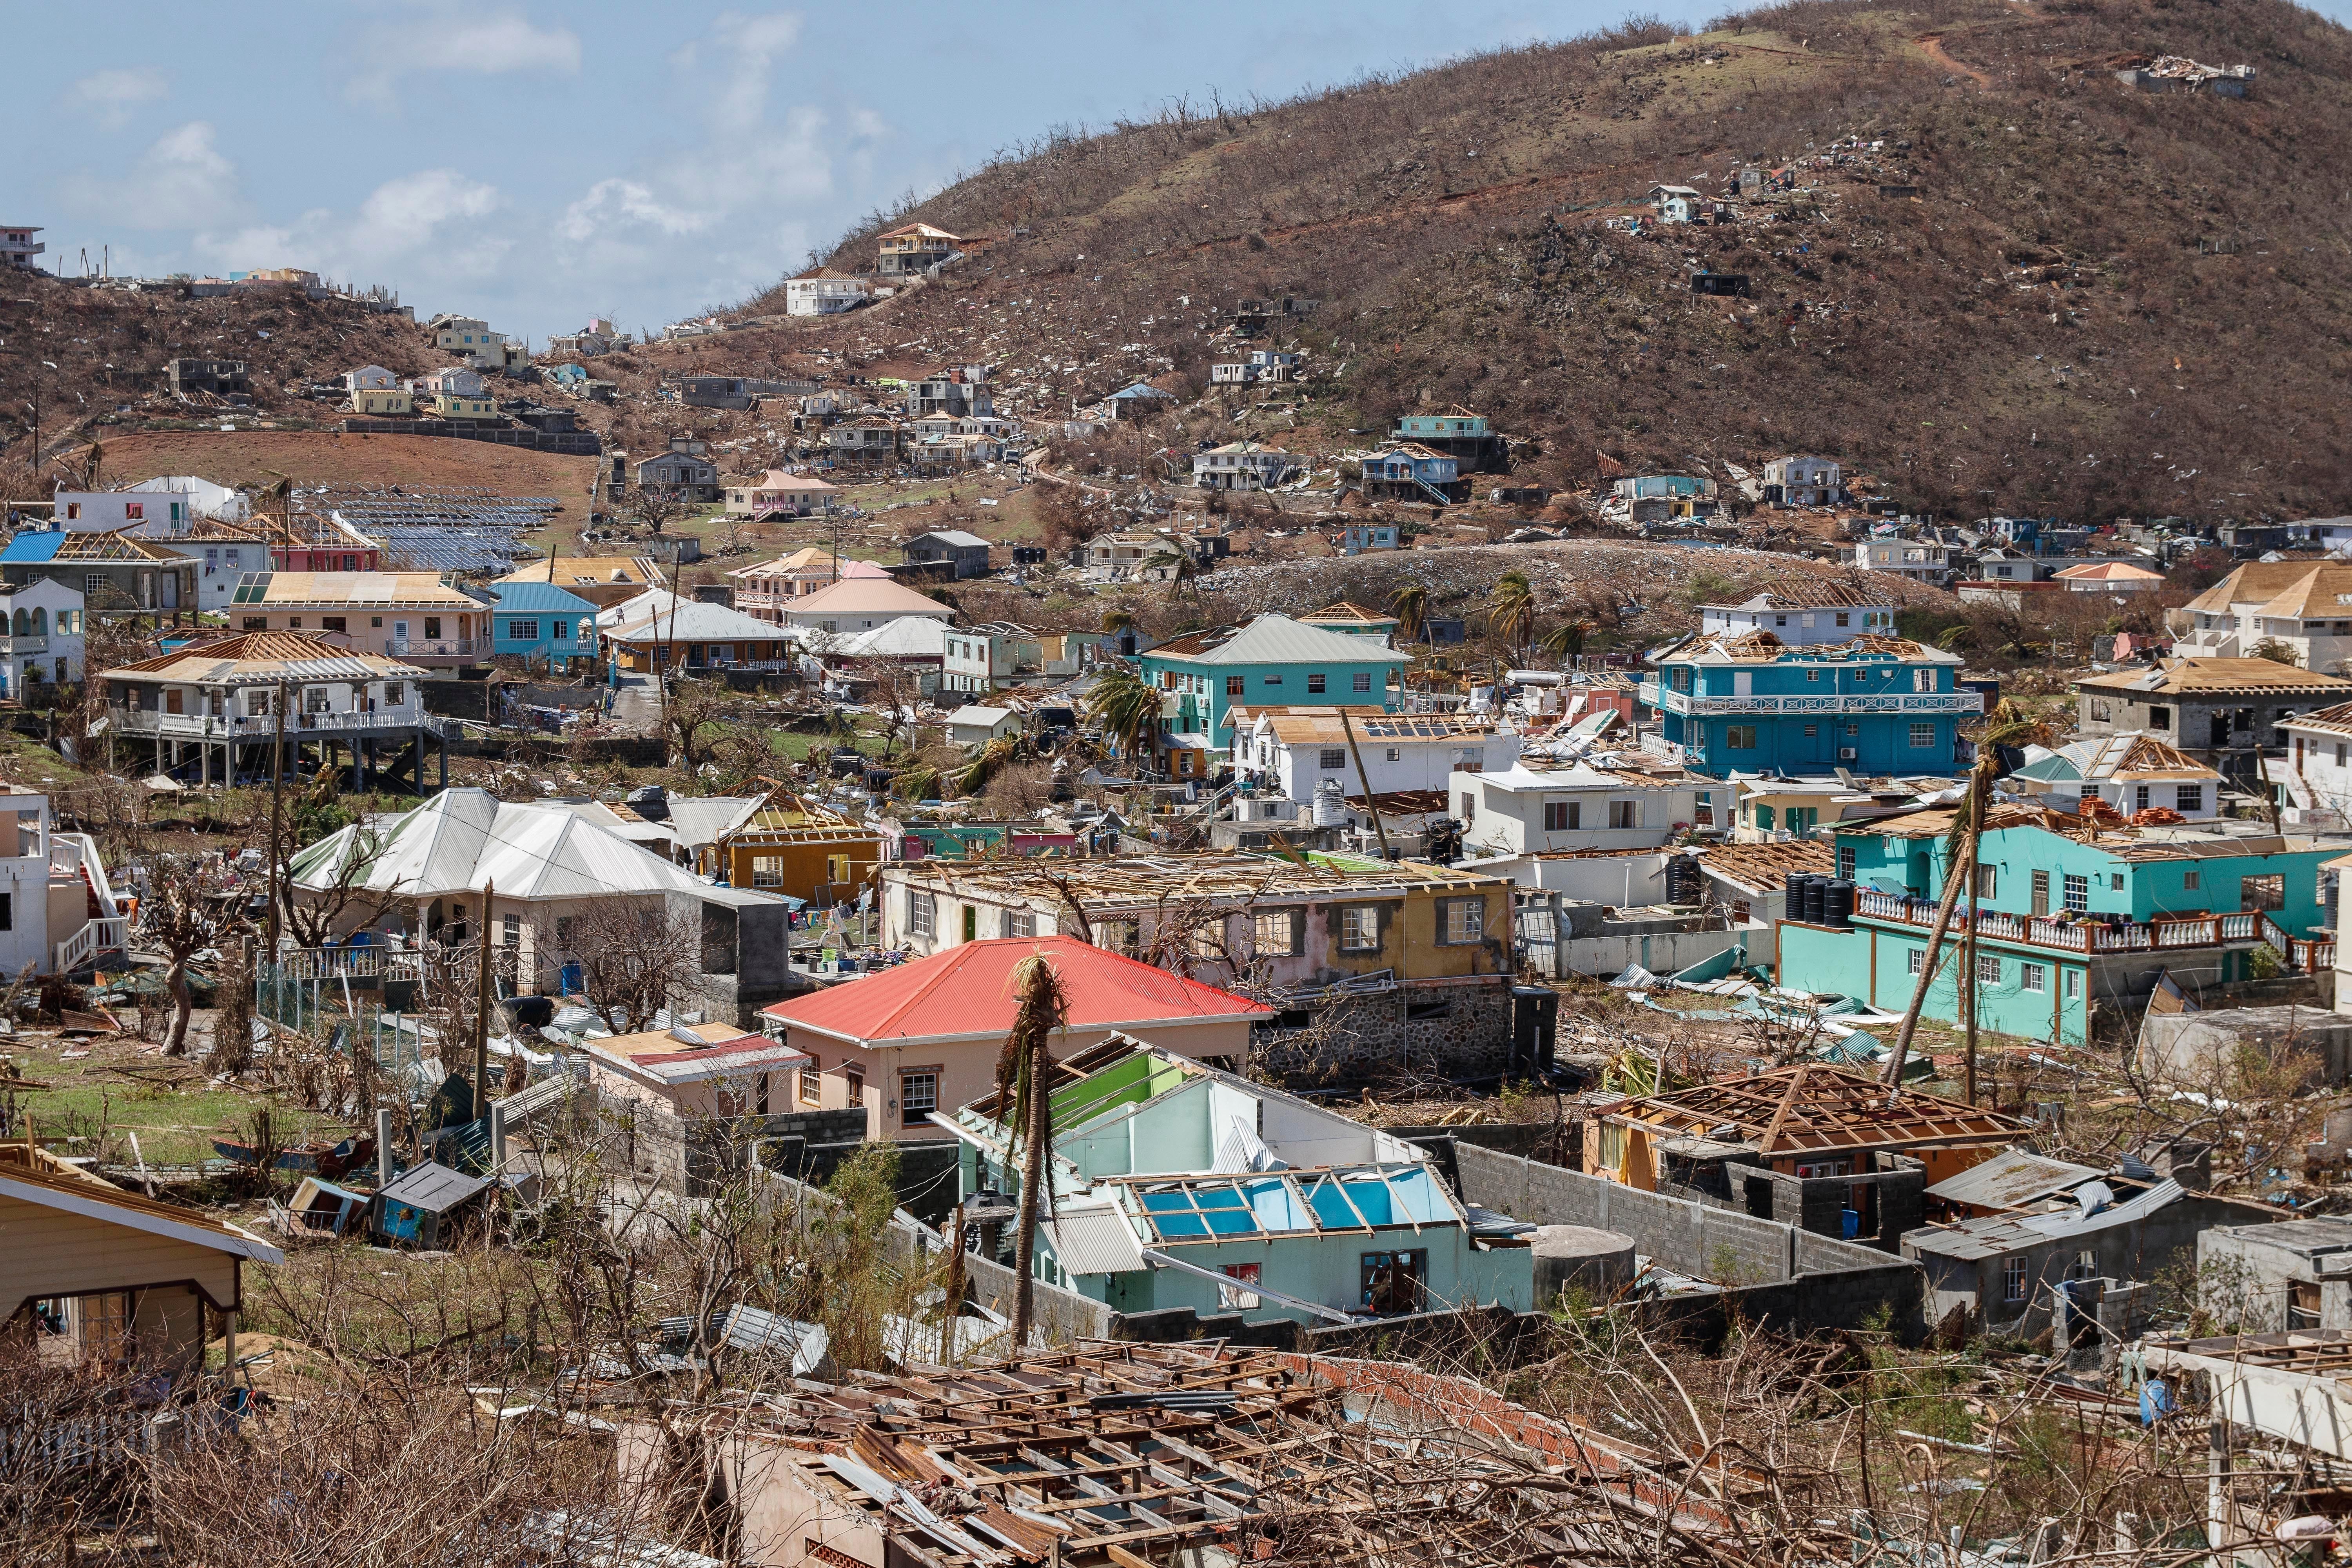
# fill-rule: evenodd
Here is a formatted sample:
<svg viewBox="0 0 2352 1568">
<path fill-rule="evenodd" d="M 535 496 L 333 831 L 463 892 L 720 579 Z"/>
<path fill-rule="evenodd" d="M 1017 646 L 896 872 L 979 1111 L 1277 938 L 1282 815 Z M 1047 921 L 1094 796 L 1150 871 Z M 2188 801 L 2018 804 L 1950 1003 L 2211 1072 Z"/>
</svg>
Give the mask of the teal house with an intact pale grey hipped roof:
<svg viewBox="0 0 2352 1568">
<path fill-rule="evenodd" d="M 1404 656 L 1371 637 L 1350 637 L 1289 616 L 1185 632 L 1136 656 L 1143 679 L 1164 691 L 1162 750 L 1232 750 L 1237 703 L 1395 708 Z"/>
</svg>

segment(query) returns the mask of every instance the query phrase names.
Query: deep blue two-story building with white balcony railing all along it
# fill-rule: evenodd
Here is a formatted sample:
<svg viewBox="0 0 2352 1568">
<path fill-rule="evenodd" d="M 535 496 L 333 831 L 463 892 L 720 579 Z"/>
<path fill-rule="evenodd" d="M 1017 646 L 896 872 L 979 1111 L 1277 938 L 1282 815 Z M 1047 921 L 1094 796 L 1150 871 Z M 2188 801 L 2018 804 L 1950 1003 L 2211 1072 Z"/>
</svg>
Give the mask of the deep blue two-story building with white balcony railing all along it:
<svg viewBox="0 0 2352 1568">
<path fill-rule="evenodd" d="M 1943 773 L 1985 710 L 1959 656 L 1903 637 L 1792 649 L 1771 632 L 1700 635 L 1658 658 L 1642 701 L 1686 766 L 1738 773 Z"/>
</svg>

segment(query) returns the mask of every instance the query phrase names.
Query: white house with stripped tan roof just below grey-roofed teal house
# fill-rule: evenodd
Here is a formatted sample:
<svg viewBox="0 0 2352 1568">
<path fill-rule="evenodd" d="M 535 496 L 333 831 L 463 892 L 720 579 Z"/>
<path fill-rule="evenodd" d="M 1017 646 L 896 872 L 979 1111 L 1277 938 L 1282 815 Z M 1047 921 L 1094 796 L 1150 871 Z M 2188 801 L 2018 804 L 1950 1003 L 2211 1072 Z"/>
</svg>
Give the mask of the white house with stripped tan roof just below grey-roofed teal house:
<svg viewBox="0 0 2352 1568">
<path fill-rule="evenodd" d="M 1341 722 L 1341 715 L 1345 724 Z M 1315 785 L 1336 778 L 1343 795 L 1364 795 L 1355 750 L 1364 755 L 1376 795 L 1430 792 L 1444 797 L 1456 776 L 1508 769 L 1519 759 L 1519 733 L 1439 712 L 1383 712 L 1381 708 L 1235 708 L 1232 773 L 1254 792 L 1315 802 Z"/>
</svg>

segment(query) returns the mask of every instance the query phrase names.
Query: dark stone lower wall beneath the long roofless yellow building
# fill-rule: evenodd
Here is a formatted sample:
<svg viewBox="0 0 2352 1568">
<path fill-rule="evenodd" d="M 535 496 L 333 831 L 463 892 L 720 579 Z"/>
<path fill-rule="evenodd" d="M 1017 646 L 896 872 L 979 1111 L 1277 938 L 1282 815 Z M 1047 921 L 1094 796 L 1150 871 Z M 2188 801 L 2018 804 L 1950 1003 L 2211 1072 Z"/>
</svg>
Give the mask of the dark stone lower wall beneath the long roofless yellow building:
<svg viewBox="0 0 2352 1568">
<path fill-rule="evenodd" d="M 1510 1065 L 1510 976 L 1411 980 L 1312 1013 L 1256 1046 L 1268 1074 L 1301 1088 L 1352 1088 L 1399 1072 L 1491 1079 Z M 1439 1011 L 1442 1009 L 1442 1011 Z"/>
</svg>

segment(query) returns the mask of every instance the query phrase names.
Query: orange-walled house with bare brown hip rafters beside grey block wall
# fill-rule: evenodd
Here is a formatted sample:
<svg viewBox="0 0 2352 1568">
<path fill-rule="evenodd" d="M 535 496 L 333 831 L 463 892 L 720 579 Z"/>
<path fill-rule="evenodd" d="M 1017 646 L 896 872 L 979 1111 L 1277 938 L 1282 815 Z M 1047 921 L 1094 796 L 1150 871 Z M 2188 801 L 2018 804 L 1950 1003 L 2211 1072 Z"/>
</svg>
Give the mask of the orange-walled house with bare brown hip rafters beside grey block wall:
<svg viewBox="0 0 2352 1568">
<path fill-rule="evenodd" d="M 1595 1105 L 1585 1175 L 1896 1251 L 1931 1182 L 2030 1133 L 2023 1117 L 1797 1063 Z"/>
</svg>

